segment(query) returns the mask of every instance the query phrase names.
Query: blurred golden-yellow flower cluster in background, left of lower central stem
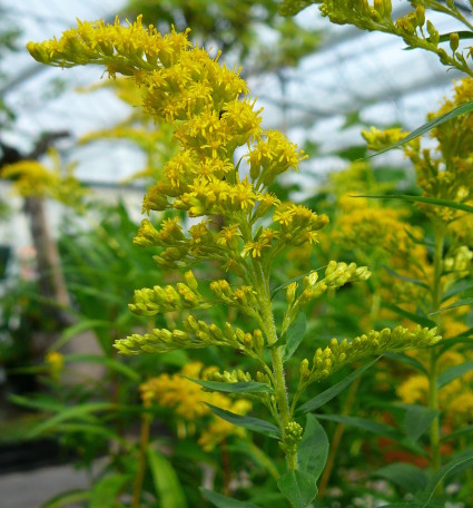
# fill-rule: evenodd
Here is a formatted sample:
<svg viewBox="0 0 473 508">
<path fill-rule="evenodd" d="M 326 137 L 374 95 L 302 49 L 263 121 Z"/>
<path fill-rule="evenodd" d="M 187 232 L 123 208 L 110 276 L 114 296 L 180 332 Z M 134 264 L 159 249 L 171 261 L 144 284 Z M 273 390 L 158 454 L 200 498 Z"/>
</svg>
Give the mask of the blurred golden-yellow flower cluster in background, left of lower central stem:
<svg viewBox="0 0 473 508">
<path fill-rule="evenodd" d="M 198 384 L 186 379 L 205 380 L 216 370 L 216 368 L 204 369 L 199 362 L 190 362 L 176 374 L 161 374 L 140 385 L 145 406 L 157 403 L 173 409 L 176 416 L 187 423 L 187 429 L 190 431 L 198 426 L 201 418 L 207 418 L 198 439 L 198 443 L 205 451 L 210 451 L 228 436 L 245 433 L 240 427 L 215 418 L 206 402 L 237 414 L 246 414 L 252 409 L 252 403 L 247 400 L 234 401 L 218 392 L 203 391 Z"/>
</svg>

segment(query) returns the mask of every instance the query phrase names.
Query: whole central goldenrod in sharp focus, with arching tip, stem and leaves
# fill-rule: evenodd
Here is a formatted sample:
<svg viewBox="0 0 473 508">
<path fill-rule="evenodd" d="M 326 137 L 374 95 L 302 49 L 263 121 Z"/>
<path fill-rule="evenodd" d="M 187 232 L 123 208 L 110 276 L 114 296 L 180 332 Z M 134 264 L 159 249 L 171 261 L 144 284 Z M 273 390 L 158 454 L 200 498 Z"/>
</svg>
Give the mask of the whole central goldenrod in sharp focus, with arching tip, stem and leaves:
<svg viewBox="0 0 473 508">
<path fill-rule="evenodd" d="M 282 202 L 270 192 L 279 175 L 297 170 L 304 152 L 282 133 L 262 129 L 262 109 L 247 97 L 239 69 L 228 69 L 219 63 L 220 55 L 210 58 L 204 48 L 193 46 L 188 31 L 161 36 L 152 26 L 142 27 L 140 17 L 127 26 L 118 19 L 114 25 L 79 22 L 59 40 L 30 42 L 28 49 L 46 65 L 95 63 L 105 66 L 110 77 L 129 77 L 144 90 L 146 110 L 173 126 L 179 153 L 167 162 L 142 206 L 148 214 L 166 211 L 168 218 L 158 225 L 144 219 L 135 243 L 156 252 L 159 268 L 184 276 L 178 283 L 137 290 L 130 310 L 150 318 L 173 313 L 181 325 L 151 328 L 117 340 L 115 346 L 125 355 L 216 346 L 235 350 L 237 359 L 248 356 L 250 373 L 211 372 L 194 382 L 267 409 L 270 418 L 262 420 L 231 412 L 233 406 L 221 409 L 207 402 L 217 417 L 278 441 L 286 459 L 278 488 L 293 506 L 308 506 L 326 460 L 326 451 L 318 450 L 318 439 L 326 438 L 311 413 L 356 374 L 305 403 L 299 403 L 302 394 L 344 365 L 386 352 L 430 348 L 440 340 L 436 329 L 397 326 L 333 339 L 297 360 L 298 380 L 289 384 L 285 365 L 304 339 L 306 305 L 371 275 L 366 266 L 331 260 L 283 287 L 273 286 L 278 256 L 316 244 L 328 223 L 325 215 Z M 199 281 L 206 263 L 218 266 L 221 276 Z M 279 315 L 274 305 L 283 292 L 285 310 Z M 215 305 L 245 315 L 244 325 L 206 321 Z M 302 417 L 307 413 L 305 422 Z M 206 495 L 217 506 L 230 502 L 211 491 Z"/>
</svg>

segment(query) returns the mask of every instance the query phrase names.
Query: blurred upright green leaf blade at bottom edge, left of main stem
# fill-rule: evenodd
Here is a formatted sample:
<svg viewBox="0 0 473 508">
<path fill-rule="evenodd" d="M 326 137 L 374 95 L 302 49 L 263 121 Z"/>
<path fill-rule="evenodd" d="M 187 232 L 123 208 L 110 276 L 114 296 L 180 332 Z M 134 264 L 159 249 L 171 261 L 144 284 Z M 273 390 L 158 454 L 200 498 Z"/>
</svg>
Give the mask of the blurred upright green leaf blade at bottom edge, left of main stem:
<svg viewBox="0 0 473 508">
<path fill-rule="evenodd" d="M 186 496 L 169 460 L 152 448 L 148 448 L 147 456 L 159 506 L 161 508 L 186 508 Z"/>
</svg>

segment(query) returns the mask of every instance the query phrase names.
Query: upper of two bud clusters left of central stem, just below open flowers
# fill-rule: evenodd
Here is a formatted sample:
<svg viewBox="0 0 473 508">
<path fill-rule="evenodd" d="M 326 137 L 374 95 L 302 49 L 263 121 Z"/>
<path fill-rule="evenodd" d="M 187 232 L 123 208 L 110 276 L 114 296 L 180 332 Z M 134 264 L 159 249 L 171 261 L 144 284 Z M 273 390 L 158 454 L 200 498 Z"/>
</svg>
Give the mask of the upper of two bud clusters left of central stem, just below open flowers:
<svg viewBox="0 0 473 508">
<path fill-rule="evenodd" d="M 187 272 L 187 284 L 179 282 L 176 287 L 156 285 L 151 289 L 136 290 L 134 302 L 128 306 L 138 315 L 156 315 L 158 313 L 178 311 L 183 309 L 208 309 L 209 303 L 198 292 L 198 284 L 193 272 Z"/>
</svg>

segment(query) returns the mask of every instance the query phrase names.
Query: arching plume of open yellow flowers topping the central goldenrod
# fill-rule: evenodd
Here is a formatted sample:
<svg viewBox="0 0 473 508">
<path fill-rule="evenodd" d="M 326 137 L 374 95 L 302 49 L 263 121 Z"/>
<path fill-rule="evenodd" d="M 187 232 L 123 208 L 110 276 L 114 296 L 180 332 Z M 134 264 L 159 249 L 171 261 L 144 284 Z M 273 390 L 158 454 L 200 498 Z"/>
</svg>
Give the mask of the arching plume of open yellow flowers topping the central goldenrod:
<svg viewBox="0 0 473 508">
<path fill-rule="evenodd" d="M 162 245 L 150 223 L 144 222 L 136 243 L 162 247 L 156 257 L 161 267 L 218 257 L 227 270 L 242 276 L 246 255 L 270 257 L 273 251 L 313 243 L 327 218 L 303 207 L 280 205 L 267 192 L 278 174 L 297 169 L 305 155 L 283 134 L 260 129 L 255 100 L 242 99 L 248 89 L 239 69 L 227 69 L 218 63 L 218 56 L 211 59 L 203 48 L 193 47 L 187 33 L 161 36 L 152 26 L 142 27 L 141 17 L 128 27 L 118 19 L 114 25 L 79 22 L 59 40 L 30 42 L 28 49 L 43 63 L 97 63 L 106 66 L 111 76 L 132 76 L 144 90 L 146 110 L 173 125 L 180 146 L 145 196 L 144 211 L 175 208 L 190 217 L 220 215 L 224 226 L 234 228 L 230 248 L 223 241 L 225 236 L 209 227 L 208 219 L 183 236 L 169 236 Z M 233 162 L 235 149 L 246 144 L 249 176 L 240 175 L 240 164 Z M 245 238 L 239 238 L 236 231 L 243 233 L 242 224 L 253 225 L 273 206 L 277 207 L 273 234 L 253 237 L 249 228 Z"/>
</svg>

